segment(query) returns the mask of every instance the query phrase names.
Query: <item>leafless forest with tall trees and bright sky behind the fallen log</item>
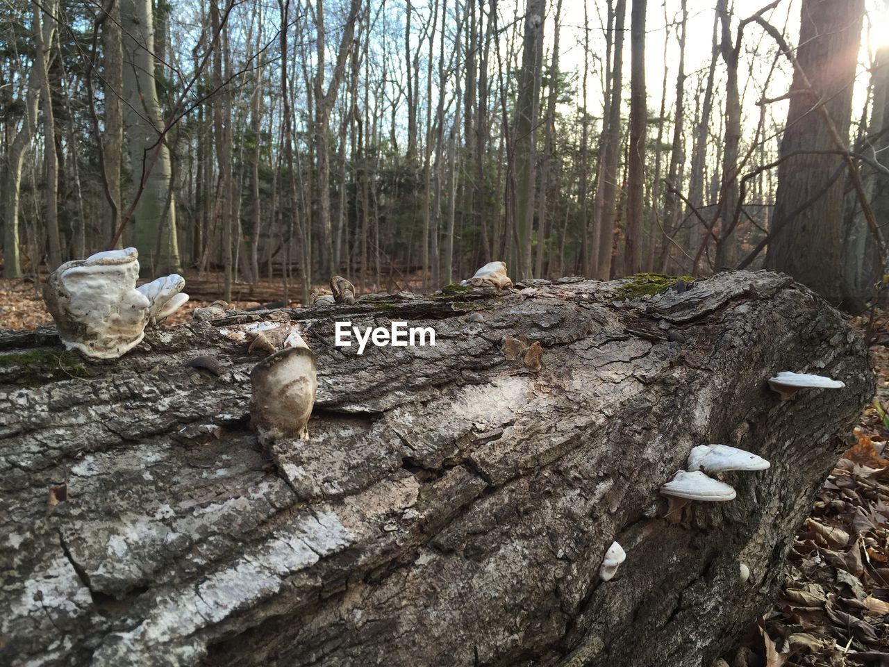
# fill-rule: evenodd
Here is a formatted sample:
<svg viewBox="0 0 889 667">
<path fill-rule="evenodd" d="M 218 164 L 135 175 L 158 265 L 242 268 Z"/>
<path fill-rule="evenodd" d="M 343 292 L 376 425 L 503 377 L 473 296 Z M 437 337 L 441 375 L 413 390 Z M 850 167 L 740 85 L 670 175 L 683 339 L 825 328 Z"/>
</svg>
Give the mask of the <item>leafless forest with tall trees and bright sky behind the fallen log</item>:
<svg viewBox="0 0 889 667">
<path fill-rule="evenodd" d="M 6 0 L 4 277 L 885 273 L 886 0 Z"/>
</svg>

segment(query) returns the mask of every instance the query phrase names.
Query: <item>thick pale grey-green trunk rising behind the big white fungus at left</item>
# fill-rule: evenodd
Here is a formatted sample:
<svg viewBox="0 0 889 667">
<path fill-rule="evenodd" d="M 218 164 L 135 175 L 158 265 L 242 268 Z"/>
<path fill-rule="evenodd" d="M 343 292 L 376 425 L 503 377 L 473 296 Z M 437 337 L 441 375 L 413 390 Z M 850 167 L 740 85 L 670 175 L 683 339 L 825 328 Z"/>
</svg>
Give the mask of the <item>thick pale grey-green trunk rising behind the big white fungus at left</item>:
<svg viewBox="0 0 889 667">
<path fill-rule="evenodd" d="M 133 245 L 139 250 L 142 275 L 155 277 L 181 271 L 176 243 L 176 205 L 170 192 L 170 151 L 164 138 L 155 84 L 151 0 L 121 0 L 124 34 L 124 117 L 130 150 L 133 195 L 160 141 L 157 161 L 145 179 L 133 213 Z"/>
</svg>

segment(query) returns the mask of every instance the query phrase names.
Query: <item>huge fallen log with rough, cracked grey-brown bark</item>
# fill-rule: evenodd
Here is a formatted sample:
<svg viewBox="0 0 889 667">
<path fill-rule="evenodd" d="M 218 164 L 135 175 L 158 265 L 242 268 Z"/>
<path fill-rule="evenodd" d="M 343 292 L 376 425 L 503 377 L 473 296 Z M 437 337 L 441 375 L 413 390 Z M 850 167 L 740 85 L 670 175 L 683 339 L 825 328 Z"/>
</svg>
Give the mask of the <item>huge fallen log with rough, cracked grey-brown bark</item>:
<svg viewBox="0 0 889 667">
<path fill-rule="evenodd" d="M 679 286 L 289 311 L 317 398 L 308 441 L 270 452 L 249 425 L 262 354 L 220 333 L 261 312 L 103 362 L 52 327 L 0 333 L 0 663 L 711 663 L 768 607 L 875 382 L 861 336 L 789 277 Z M 359 356 L 336 320 L 436 342 Z M 540 342 L 541 369 L 506 336 Z M 845 388 L 781 400 L 783 370 Z M 772 466 L 668 514 L 659 488 L 707 443 Z"/>
</svg>

